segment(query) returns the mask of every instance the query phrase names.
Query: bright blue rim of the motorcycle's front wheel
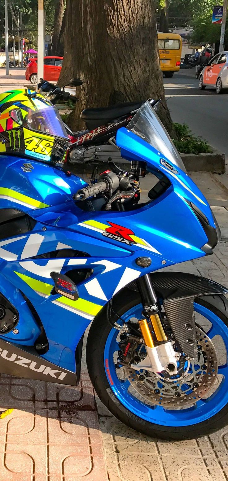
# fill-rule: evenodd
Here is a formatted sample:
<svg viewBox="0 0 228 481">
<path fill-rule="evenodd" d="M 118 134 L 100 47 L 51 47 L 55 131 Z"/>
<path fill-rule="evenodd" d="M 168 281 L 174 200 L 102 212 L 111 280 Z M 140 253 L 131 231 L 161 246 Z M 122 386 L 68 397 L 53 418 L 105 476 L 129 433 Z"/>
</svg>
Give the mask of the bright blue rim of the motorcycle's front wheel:
<svg viewBox="0 0 228 481">
<path fill-rule="evenodd" d="M 213 339 L 215 335 L 222 337 L 226 352 L 228 353 L 228 327 L 223 321 L 201 304 L 194 303 L 195 312 L 201 314 L 212 324 L 208 330 L 207 335 L 210 339 Z M 129 309 L 121 318 L 124 321 L 131 317 L 141 318 L 142 306 L 137 306 Z M 121 323 L 121 321 L 119 321 Z M 121 381 L 114 366 L 114 352 L 118 350 L 118 343 L 116 338 L 118 335 L 117 329 L 111 329 L 104 348 L 104 367 L 107 376 L 107 380 L 110 384 L 114 395 L 119 402 L 124 405 L 130 412 L 141 419 L 155 423 L 161 426 L 167 427 L 181 427 L 190 426 L 203 422 L 212 416 L 215 416 L 227 403 L 228 403 L 228 389 L 226 382 L 228 380 L 228 360 L 223 366 L 218 367 L 218 374 L 223 375 L 223 379 L 220 382 L 216 391 L 205 400 L 199 400 L 196 405 L 188 407 L 182 410 L 165 409 L 163 406 L 154 405 L 150 406 L 144 404 L 142 401 L 134 397 L 127 391 L 129 387 L 129 381 Z"/>
</svg>

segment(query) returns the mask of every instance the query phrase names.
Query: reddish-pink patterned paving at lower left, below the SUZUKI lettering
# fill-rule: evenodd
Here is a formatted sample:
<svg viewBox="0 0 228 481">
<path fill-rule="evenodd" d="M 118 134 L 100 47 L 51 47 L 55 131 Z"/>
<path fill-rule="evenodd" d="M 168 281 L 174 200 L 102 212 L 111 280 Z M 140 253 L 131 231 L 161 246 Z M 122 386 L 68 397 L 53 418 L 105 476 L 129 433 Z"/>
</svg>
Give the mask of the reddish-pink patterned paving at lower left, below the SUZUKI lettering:
<svg viewBox="0 0 228 481">
<path fill-rule="evenodd" d="M 108 480 L 92 386 L 0 377 L 0 481 Z"/>
</svg>

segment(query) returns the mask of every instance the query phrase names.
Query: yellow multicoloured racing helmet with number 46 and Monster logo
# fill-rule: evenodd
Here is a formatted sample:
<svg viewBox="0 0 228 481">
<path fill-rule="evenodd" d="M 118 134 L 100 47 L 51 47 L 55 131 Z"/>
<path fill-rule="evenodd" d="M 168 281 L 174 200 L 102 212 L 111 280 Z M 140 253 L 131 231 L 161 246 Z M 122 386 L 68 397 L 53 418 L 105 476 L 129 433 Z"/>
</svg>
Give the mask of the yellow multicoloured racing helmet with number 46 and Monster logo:
<svg viewBox="0 0 228 481">
<path fill-rule="evenodd" d="M 69 145 L 58 109 L 29 89 L 0 94 L 0 153 L 63 164 Z"/>
</svg>

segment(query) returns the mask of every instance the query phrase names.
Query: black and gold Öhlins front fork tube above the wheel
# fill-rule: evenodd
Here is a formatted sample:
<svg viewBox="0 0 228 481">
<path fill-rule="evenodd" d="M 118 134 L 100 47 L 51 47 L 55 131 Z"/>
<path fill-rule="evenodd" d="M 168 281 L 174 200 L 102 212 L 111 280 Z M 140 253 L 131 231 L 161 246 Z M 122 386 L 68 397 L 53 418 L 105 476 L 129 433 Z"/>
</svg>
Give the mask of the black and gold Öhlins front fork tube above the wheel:
<svg viewBox="0 0 228 481">
<path fill-rule="evenodd" d="M 154 337 L 152 337 L 152 332 L 146 319 L 139 321 L 139 327 L 145 345 L 148 347 L 154 347 L 154 342 L 167 342 L 168 338 L 159 316 L 157 296 L 153 289 L 150 275 L 145 274 L 145 276 L 139 278 L 137 280 L 137 286 L 144 307 L 144 312 L 151 321 L 154 333 Z"/>
</svg>

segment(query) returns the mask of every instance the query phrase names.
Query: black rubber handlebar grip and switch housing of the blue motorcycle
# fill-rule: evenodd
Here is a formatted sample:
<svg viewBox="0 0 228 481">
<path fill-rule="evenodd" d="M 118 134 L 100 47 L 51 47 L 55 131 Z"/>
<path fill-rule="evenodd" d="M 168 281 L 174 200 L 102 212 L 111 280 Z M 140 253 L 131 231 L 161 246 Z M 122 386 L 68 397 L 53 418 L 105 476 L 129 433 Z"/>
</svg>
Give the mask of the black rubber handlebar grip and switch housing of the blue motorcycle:
<svg viewBox="0 0 228 481">
<path fill-rule="evenodd" d="M 106 171 L 100 176 L 101 180 L 93 185 L 88 185 L 83 189 L 79 189 L 73 196 L 75 201 L 85 201 L 88 197 L 101 194 L 101 192 L 112 193 L 118 189 L 120 180 L 119 177 L 111 171 Z"/>
</svg>

